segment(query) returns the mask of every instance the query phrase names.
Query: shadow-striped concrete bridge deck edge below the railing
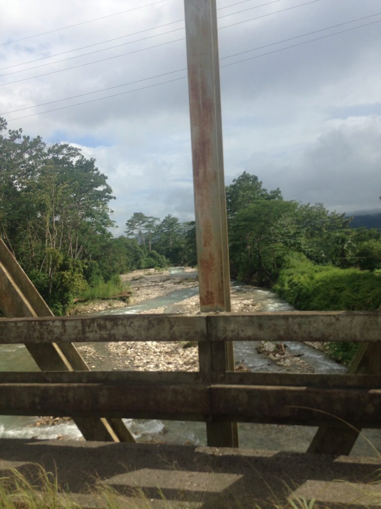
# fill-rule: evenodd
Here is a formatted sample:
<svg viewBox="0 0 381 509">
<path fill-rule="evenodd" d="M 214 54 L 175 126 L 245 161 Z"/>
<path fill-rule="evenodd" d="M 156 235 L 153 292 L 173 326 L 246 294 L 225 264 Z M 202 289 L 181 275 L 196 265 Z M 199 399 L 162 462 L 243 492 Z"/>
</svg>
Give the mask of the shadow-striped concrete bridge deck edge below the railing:
<svg viewBox="0 0 381 509">
<path fill-rule="evenodd" d="M 351 509 L 381 502 L 381 485 L 369 485 L 381 468 L 381 458 L 162 444 L 0 440 L 0 476 L 10 468 L 33 471 L 37 463 L 57 472 L 59 483 L 73 494 L 86 490 L 95 478 L 127 496 L 141 487 L 150 504 L 142 503 L 145 508 L 252 509 L 258 503 L 264 509 L 274 507 L 275 501 L 285 505 L 292 493 L 323 500 L 330 509 L 338 507 L 338 501 L 340 507 Z M 99 507 L 89 496 L 77 499 L 86 507 Z M 133 507 L 140 507 L 139 502 Z"/>
</svg>

